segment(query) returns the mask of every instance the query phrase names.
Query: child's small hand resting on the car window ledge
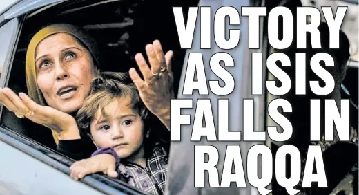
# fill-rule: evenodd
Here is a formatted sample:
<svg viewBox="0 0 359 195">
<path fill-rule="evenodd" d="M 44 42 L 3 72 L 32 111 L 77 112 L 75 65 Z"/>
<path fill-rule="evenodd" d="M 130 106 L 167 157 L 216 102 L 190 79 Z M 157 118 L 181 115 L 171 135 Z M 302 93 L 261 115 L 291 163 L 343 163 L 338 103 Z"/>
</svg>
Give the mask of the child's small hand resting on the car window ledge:
<svg viewBox="0 0 359 195">
<path fill-rule="evenodd" d="M 103 172 L 111 178 L 118 176 L 116 169 L 116 160 L 110 154 L 98 154 L 87 159 L 79 160 L 70 167 L 70 176 L 75 179 L 84 178 L 88 174 Z"/>
</svg>

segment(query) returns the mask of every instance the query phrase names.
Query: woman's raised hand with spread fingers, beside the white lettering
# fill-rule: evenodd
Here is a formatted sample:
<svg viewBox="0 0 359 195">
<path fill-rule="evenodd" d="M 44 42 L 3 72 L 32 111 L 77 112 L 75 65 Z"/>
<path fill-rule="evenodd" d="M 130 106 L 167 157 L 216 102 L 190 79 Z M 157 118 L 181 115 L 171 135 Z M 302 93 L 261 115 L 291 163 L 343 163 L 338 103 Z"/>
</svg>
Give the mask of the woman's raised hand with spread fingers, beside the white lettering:
<svg viewBox="0 0 359 195">
<path fill-rule="evenodd" d="M 155 114 L 167 129 L 170 129 L 170 105 L 171 99 L 175 98 L 171 71 L 173 52 L 170 50 L 164 55 L 161 44 L 156 40 L 146 46 L 146 54 L 151 68 L 148 67 L 142 54 L 137 53 L 135 56 L 144 80 L 139 77 L 135 68 L 130 69 L 130 77 L 148 110 Z"/>
</svg>

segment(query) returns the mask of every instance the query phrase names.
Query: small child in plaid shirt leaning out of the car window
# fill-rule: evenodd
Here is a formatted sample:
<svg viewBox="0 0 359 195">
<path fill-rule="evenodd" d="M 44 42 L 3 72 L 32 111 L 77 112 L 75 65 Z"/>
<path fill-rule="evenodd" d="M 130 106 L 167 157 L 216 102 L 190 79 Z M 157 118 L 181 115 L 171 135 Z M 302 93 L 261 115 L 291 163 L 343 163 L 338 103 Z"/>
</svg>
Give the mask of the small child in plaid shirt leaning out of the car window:
<svg viewBox="0 0 359 195">
<path fill-rule="evenodd" d="M 151 144 L 148 110 L 124 73 L 93 80 L 90 95 L 77 113 L 80 132 L 97 147 L 92 157 L 75 162 L 71 177 L 102 171 L 148 194 L 164 194 L 168 158 L 164 147 Z M 116 169 L 116 171 L 115 171 Z"/>
</svg>

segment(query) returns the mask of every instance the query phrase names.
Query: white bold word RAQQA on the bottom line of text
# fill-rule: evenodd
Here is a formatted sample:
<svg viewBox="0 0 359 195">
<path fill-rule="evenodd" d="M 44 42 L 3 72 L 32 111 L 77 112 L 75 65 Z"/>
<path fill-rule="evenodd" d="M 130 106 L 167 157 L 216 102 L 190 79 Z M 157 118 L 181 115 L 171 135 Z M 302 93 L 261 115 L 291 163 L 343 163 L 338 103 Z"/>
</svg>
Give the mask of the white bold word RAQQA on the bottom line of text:
<svg viewBox="0 0 359 195">
<path fill-rule="evenodd" d="M 209 160 L 205 162 L 205 154 Z M 262 160 L 258 160 L 261 154 Z M 290 156 L 289 166 L 291 167 L 290 177 L 286 176 L 286 156 Z M 320 146 L 309 146 L 302 187 L 311 187 L 311 183 L 318 182 L 319 187 L 327 187 L 327 178 L 324 170 L 322 151 Z M 246 187 L 246 177 L 239 145 L 229 145 L 226 148 L 222 179 L 219 180 L 219 173 L 215 167 L 218 163 L 218 151 L 213 146 L 195 145 L 195 187 L 204 187 L 204 172 L 208 171 L 210 187 L 229 187 L 234 182 L 237 187 Z M 300 151 L 292 145 L 283 145 L 275 154 L 275 173 L 273 173 L 273 156 L 271 149 L 265 145 L 255 145 L 248 151 L 246 158 L 246 176 L 251 186 L 257 187 L 260 194 L 269 194 L 271 190 L 266 189 L 271 183 L 273 174 L 278 184 L 287 189 L 291 195 L 297 194 L 299 190 L 294 189 L 298 185 L 301 176 Z M 260 162 L 258 162 L 260 161 Z M 234 166 L 235 172 L 232 173 Z M 313 173 L 313 168 L 316 173 Z M 258 167 L 262 167 L 262 173 L 258 173 Z M 258 177 L 262 174 L 262 177 Z"/>
</svg>

